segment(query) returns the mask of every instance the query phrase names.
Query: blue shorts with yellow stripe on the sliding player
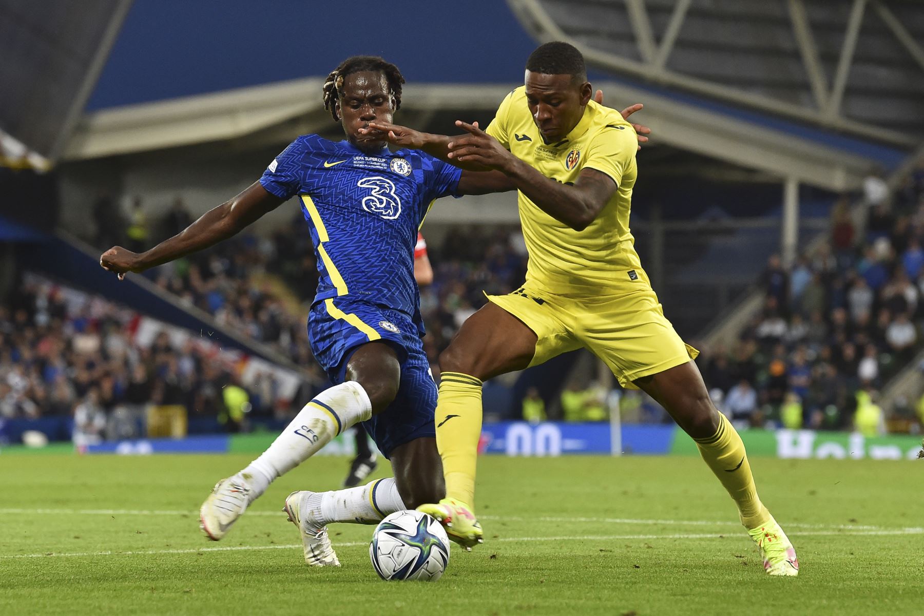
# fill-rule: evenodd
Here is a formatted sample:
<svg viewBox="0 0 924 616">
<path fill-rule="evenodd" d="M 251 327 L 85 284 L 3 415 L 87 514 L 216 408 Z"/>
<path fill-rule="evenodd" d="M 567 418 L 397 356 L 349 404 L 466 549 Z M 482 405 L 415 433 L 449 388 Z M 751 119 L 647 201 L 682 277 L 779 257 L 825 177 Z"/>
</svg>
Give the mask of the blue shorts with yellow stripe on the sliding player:
<svg viewBox="0 0 924 616">
<path fill-rule="evenodd" d="M 381 340 L 395 349 L 401 363 L 395 401 L 362 422 L 386 458 L 398 445 L 436 438 L 436 383 L 417 325 L 406 314 L 357 299 L 322 300 L 311 307 L 308 338 L 311 352 L 335 385 L 346 380 L 346 362 L 360 345 Z"/>
</svg>

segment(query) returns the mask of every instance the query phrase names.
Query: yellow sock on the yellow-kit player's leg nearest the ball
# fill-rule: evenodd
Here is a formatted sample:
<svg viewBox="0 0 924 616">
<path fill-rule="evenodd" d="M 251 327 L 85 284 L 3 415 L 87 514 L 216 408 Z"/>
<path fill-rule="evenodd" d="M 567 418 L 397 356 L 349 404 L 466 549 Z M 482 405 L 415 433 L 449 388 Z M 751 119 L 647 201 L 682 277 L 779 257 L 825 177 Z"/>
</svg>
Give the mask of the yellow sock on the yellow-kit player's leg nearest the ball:
<svg viewBox="0 0 924 616">
<path fill-rule="evenodd" d="M 435 418 L 446 496 L 474 507 L 481 438 L 481 381 L 461 372 L 444 372 Z"/>
</svg>

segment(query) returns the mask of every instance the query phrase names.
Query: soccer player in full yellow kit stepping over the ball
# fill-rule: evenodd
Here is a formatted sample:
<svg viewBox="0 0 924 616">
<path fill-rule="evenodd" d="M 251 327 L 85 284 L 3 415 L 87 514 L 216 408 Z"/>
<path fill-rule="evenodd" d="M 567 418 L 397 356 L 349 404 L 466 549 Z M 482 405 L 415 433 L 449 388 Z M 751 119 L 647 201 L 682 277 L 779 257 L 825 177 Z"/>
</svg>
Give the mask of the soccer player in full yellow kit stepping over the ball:
<svg viewBox="0 0 924 616">
<path fill-rule="evenodd" d="M 760 502 L 744 444 L 716 410 L 691 361 L 696 349 L 664 318 L 629 231 L 637 135 L 622 115 L 590 100 L 580 52 L 565 42 L 529 56 L 525 86 L 490 126 L 457 122 L 461 137 L 374 125 L 402 146 L 469 169 L 496 169 L 518 190 L 529 250 L 526 282 L 472 315 L 440 356 L 436 439 L 447 498 L 421 505 L 457 542 L 481 541 L 473 514 L 481 383 L 580 347 L 624 387 L 649 393 L 698 444 L 736 502 L 741 523 L 773 575 L 798 574 L 796 550 Z"/>
</svg>

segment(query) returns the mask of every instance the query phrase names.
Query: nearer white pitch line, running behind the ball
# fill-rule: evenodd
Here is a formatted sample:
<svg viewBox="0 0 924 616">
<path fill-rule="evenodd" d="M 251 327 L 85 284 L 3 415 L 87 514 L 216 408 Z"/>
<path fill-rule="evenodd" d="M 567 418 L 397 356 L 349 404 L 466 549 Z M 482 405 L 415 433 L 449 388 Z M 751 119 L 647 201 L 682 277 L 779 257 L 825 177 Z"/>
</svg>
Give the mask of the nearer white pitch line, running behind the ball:
<svg viewBox="0 0 924 616">
<path fill-rule="evenodd" d="M 924 528 L 896 528 L 893 530 L 860 530 L 860 531 L 810 531 L 791 533 L 794 537 L 824 537 L 836 536 L 894 536 L 894 535 L 924 535 Z M 674 535 L 563 535 L 560 537 L 500 537 L 491 539 L 491 542 L 523 543 L 536 541 L 638 541 L 641 539 L 718 539 L 726 537 L 719 533 L 701 534 L 674 534 Z M 737 536 L 736 536 L 737 537 Z M 734 538 L 734 537 L 733 537 Z M 743 538 L 743 536 L 739 537 Z M 368 541 L 347 541 L 336 543 L 336 548 L 351 548 L 369 545 Z M 201 552 L 246 551 L 246 550 L 295 550 L 301 548 L 298 543 L 271 546 L 227 546 L 222 548 L 192 548 L 183 550 L 136 550 L 136 551 L 98 551 L 98 552 L 43 552 L 39 554 L 0 554 L 0 560 L 19 558 L 56 558 L 56 557 L 84 557 L 84 556 L 150 556 L 155 554 L 198 554 Z"/>
</svg>

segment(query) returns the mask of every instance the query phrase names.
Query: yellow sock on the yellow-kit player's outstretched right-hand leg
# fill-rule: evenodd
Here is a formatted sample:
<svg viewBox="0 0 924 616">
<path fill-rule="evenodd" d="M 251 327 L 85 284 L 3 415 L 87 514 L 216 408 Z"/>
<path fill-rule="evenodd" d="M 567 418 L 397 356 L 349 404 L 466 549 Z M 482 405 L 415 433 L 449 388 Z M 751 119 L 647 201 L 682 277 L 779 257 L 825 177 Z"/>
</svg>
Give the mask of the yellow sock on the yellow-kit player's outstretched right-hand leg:
<svg viewBox="0 0 924 616">
<path fill-rule="evenodd" d="M 728 490 L 728 495 L 738 506 L 741 524 L 750 530 L 767 522 L 770 512 L 757 495 L 744 442 L 728 419 L 723 415 L 720 417 L 722 419 L 719 429 L 713 436 L 694 440 L 702 459 L 712 469 L 715 477 L 719 477 L 719 481 Z"/>
</svg>

